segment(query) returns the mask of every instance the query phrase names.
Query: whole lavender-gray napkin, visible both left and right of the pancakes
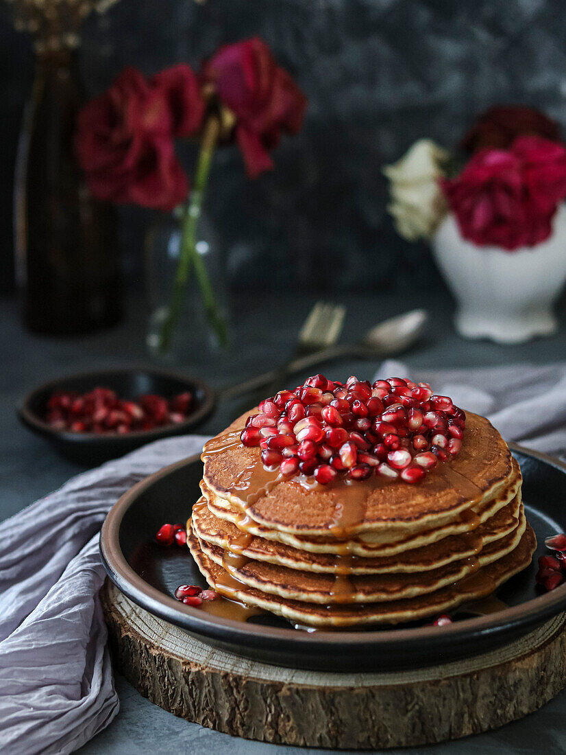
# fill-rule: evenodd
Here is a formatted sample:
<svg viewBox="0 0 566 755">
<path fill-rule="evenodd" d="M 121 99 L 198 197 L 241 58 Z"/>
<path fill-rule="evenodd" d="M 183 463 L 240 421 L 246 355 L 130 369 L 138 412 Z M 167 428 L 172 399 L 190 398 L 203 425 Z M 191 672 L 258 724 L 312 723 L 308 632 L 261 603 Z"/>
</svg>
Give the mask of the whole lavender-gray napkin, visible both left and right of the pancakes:
<svg viewBox="0 0 566 755">
<path fill-rule="evenodd" d="M 453 371 L 381 365 L 485 414 L 507 440 L 566 454 L 566 364 Z M 142 477 L 200 451 L 171 438 L 70 480 L 0 525 L 0 751 L 69 753 L 112 721 L 118 698 L 98 590 L 98 531 Z"/>
</svg>

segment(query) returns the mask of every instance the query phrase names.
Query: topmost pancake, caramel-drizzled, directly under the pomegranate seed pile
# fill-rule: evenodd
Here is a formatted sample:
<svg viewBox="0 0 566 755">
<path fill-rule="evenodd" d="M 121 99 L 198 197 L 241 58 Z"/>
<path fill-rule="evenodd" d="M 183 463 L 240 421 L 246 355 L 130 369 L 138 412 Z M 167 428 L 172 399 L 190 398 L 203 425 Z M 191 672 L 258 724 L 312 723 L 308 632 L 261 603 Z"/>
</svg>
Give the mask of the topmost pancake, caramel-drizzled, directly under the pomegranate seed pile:
<svg viewBox="0 0 566 755">
<path fill-rule="evenodd" d="M 243 414 L 226 433 L 235 436 L 252 413 Z M 262 485 L 246 489 L 254 471 L 263 470 L 260 448 L 233 442 L 213 455 L 203 454 L 203 461 L 204 481 L 219 498 L 244 510 L 255 522 L 301 535 L 344 536 L 391 528 L 418 532 L 432 523 L 453 521 L 490 500 L 512 476 L 512 457 L 503 438 L 487 419 L 472 413 L 467 413 L 457 457 L 439 464 L 416 485 L 375 475 L 363 482 L 341 479 L 313 485 L 311 478 L 272 473 L 268 479 L 268 473 L 262 472 Z M 356 516 L 344 517 L 353 508 Z"/>
</svg>

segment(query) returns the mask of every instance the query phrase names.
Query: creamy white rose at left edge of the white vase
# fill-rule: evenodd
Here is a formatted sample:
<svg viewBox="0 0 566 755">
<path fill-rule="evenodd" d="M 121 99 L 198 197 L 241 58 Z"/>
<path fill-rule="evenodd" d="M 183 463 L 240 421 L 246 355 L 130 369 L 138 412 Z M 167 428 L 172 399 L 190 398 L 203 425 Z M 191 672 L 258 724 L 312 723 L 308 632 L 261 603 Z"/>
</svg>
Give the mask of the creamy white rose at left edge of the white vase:
<svg viewBox="0 0 566 755">
<path fill-rule="evenodd" d="M 420 139 L 398 162 L 384 166 L 390 180 L 387 210 L 404 239 L 430 239 L 444 217 L 446 204 L 438 180 L 445 175 L 448 157 L 430 139 Z"/>
</svg>

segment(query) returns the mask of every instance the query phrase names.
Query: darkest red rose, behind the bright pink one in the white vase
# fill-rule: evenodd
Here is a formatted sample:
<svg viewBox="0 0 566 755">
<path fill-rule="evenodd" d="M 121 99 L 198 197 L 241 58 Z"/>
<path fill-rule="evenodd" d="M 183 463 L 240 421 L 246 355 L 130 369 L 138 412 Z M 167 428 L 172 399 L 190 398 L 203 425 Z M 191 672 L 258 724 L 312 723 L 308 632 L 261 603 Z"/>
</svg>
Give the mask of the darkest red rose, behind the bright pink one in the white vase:
<svg viewBox="0 0 566 755">
<path fill-rule="evenodd" d="M 488 146 L 508 149 L 522 134 L 561 141 L 560 127 L 542 112 L 531 107 L 504 105 L 482 113 L 460 146 L 472 154 Z"/>
</svg>

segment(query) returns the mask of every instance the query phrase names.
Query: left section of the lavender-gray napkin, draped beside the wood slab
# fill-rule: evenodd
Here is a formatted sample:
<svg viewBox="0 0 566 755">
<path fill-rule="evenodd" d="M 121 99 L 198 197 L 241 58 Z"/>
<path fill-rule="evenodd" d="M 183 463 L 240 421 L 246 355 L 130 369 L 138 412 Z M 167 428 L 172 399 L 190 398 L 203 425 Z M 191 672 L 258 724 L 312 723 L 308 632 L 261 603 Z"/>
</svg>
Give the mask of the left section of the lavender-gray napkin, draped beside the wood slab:
<svg viewBox="0 0 566 755">
<path fill-rule="evenodd" d="M 99 529 L 122 493 L 204 440 L 145 446 L 0 525 L 0 752 L 70 753 L 118 713 L 98 598 Z"/>
</svg>

